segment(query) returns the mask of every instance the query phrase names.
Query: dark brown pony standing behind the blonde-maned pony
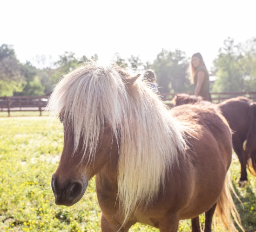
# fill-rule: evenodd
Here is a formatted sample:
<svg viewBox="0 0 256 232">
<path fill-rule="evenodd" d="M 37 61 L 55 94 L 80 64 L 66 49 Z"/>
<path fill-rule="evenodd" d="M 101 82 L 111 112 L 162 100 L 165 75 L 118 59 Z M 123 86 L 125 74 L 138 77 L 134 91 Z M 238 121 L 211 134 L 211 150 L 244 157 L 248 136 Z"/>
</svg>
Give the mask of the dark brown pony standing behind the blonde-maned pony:
<svg viewBox="0 0 256 232">
<path fill-rule="evenodd" d="M 173 103 L 175 106 L 189 103 L 211 104 L 203 101 L 202 97 L 189 94 L 177 94 Z M 252 174 L 256 173 L 256 103 L 247 97 L 234 97 L 214 105 L 221 110 L 233 131 L 232 143 L 241 164 L 239 183 L 242 184 L 248 180 L 246 167 Z"/>
</svg>

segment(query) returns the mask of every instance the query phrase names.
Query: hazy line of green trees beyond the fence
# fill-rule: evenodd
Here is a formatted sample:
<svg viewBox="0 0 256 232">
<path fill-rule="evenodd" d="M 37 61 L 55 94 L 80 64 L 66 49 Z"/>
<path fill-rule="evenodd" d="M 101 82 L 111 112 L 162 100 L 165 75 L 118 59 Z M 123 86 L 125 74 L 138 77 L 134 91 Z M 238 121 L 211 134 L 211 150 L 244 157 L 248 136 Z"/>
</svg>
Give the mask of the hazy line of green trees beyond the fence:
<svg viewBox="0 0 256 232">
<path fill-rule="evenodd" d="M 97 60 L 98 56 L 95 54 L 91 58 Z M 13 46 L 3 44 L 0 46 L 0 97 L 48 94 L 61 76 L 87 61 L 86 56 L 76 58 L 74 52 L 65 52 L 49 67 L 36 68 L 29 61 L 21 64 Z M 191 93 L 194 90 L 187 74 L 190 58 L 180 50 L 162 49 L 153 63 L 143 63 L 140 56 L 121 58 L 115 53 L 112 62 L 135 71 L 153 69 L 162 93 Z M 256 38 L 238 44 L 234 39 L 225 39 L 210 75 L 217 77 L 210 86 L 211 91 L 256 91 Z"/>
</svg>

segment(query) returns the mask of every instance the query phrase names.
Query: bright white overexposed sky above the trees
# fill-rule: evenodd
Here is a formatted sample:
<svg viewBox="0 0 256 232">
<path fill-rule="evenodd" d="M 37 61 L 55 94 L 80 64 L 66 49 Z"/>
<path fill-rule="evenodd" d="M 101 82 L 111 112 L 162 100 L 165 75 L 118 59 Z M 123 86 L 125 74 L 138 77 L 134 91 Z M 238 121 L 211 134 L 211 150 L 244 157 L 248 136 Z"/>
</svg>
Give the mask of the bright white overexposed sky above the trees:
<svg viewBox="0 0 256 232">
<path fill-rule="evenodd" d="M 104 65 L 116 52 L 152 63 L 165 48 L 201 52 L 210 69 L 224 39 L 256 37 L 256 0 L 6 0 L 0 7 L 0 45 L 37 67 L 36 57 L 54 62 L 65 51 L 96 53 Z"/>
</svg>

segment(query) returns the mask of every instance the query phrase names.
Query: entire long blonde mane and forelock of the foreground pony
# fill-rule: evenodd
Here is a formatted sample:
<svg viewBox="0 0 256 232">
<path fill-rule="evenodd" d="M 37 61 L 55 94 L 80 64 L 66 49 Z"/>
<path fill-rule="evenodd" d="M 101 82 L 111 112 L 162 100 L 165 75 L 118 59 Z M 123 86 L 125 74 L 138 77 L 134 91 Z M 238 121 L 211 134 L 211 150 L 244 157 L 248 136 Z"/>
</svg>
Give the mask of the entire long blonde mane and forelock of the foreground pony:
<svg viewBox="0 0 256 232">
<path fill-rule="evenodd" d="M 52 115 L 62 112 L 62 120 L 72 123 L 74 152 L 82 136 L 91 161 L 102 126 L 112 127 L 119 141 L 118 200 L 124 222 L 138 204 L 153 200 L 186 147 L 182 127 L 165 104 L 141 78 L 128 90 L 123 81 L 128 75 L 92 61 L 63 77 L 47 106 Z"/>
</svg>

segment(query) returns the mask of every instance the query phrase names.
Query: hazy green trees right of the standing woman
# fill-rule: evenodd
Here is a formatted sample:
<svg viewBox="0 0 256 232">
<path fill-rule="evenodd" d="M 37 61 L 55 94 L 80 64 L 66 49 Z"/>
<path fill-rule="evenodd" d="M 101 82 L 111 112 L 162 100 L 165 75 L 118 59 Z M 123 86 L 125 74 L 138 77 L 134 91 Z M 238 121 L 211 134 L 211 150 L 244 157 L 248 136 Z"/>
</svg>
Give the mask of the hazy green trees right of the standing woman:
<svg viewBox="0 0 256 232">
<path fill-rule="evenodd" d="M 235 45 L 234 39 L 224 40 L 214 60 L 218 77 L 213 85 L 216 92 L 256 90 L 256 38 Z"/>
</svg>

